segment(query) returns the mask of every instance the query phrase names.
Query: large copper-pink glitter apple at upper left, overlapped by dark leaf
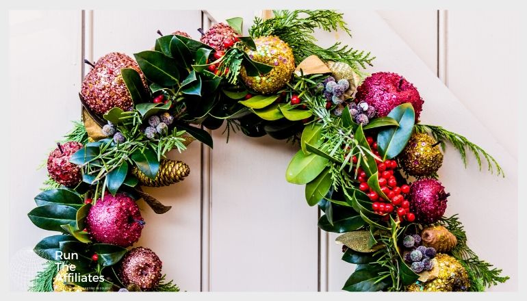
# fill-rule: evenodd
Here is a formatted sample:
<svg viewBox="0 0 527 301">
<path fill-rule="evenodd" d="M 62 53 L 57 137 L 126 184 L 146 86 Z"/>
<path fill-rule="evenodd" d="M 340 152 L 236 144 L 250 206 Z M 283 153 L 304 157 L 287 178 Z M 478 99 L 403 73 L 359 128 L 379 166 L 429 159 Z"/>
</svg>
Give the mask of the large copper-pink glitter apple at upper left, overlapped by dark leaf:
<svg viewBox="0 0 527 301">
<path fill-rule="evenodd" d="M 105 114 L 113 107 L 120 107 L 125 111 L 132 109 L 130 93 L 120 74 L 122 68 L 136 70 L 141 76 L 144 88 L 148 88 L 136 61 L 124 53 L 108 53 L 95 63 L 82 81 L 81 95 L 94 113 Z"/>
</svg>

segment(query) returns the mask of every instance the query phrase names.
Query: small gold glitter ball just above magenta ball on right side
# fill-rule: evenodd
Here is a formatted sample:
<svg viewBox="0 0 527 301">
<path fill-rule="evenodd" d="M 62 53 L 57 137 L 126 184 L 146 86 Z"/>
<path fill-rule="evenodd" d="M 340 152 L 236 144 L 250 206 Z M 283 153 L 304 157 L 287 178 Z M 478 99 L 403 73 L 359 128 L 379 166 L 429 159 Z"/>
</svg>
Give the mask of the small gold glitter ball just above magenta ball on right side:
<svg viewBox="0 0 527 301">
<path fill-rule="evenodd" d="M 398 158 L 401 168 L 411 176 L 430 176 L 443 163 L 437 141 L 426 133 L 413 133 Z"/>
</svg>

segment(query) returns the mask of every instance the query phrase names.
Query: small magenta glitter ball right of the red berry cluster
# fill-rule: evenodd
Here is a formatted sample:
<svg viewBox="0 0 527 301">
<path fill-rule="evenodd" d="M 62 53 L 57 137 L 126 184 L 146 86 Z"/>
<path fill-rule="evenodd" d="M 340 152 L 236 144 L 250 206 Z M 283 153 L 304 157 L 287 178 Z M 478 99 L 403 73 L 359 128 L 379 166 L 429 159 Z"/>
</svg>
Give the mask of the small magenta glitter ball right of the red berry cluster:
<svg viewBox="0 0 527 301">
<path fill-rule="evenodd" d="M 432 224 L 445 213 L 448 196 L 441 182 L 419 179 L 410 186 L 410 211 L 415 213 L 417 222 Z"/>
</svg>

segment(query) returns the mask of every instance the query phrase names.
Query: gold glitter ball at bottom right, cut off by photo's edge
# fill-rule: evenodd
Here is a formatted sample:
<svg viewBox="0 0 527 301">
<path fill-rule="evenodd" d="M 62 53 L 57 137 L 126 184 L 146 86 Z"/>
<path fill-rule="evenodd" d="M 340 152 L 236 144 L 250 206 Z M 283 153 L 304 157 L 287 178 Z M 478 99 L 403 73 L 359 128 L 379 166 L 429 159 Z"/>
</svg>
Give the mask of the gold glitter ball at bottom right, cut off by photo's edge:
<svg viewBox="0 0 527 301">
<path fill-rule="evenodd" d="M 405 287 L 406 291 L 467 291 L 470 287 L 467 270 L 454 257 L 437 254 L 439 275 L 425 283 L 417 282 Z"/>
</svg>

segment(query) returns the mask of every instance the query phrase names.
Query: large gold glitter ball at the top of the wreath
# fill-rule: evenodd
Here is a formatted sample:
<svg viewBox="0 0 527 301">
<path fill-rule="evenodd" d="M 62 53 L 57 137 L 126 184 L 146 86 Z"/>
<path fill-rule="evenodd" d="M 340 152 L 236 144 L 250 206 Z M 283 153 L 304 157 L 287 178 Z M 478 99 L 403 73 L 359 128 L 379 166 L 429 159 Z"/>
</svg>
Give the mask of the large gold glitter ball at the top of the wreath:
<svg viewBox="0 0 527 301">
<path fill-rule="evenodd" d="M 256 50 L 244 49 L 251 60 L 272 66 L 266 75 L 250 77 L 245 67 L 240 69 L 244 83 L 261 94 L 277 92 L 291 79 L 294 71 L 293 50 L 276 36 L 261 36 L 255 38 Z"/>
</svg>

